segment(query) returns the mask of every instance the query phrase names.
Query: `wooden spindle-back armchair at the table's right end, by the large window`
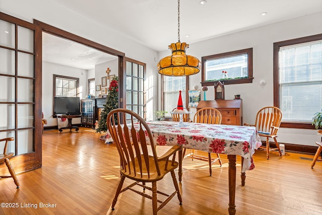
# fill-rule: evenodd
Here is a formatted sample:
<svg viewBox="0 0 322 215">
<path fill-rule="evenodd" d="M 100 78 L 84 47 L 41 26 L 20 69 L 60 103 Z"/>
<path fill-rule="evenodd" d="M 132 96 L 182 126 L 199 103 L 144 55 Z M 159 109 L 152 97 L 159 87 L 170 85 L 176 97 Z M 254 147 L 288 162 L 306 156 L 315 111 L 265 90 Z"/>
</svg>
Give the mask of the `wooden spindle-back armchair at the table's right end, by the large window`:
<svg viewBox="0 0 322 215">
<path fill-rule="evenodd" d="M 264 107 L 260 109 L 256 115 L 255 124 L 244 123 L 246 126 L 255 126 L 260 136 L 266 137 L 266 147 L 260 148 L 266 149 L 267 160 L 270 158 L 270 152 L 277 150 L 279 155 L 282 156 L 280 146 L 276 140 L 277 131 L 281 125 L 282 111 L 277 107 Z M 276 148 L 270 149 L 269 138 L 273 138 Z"/>
</svg>

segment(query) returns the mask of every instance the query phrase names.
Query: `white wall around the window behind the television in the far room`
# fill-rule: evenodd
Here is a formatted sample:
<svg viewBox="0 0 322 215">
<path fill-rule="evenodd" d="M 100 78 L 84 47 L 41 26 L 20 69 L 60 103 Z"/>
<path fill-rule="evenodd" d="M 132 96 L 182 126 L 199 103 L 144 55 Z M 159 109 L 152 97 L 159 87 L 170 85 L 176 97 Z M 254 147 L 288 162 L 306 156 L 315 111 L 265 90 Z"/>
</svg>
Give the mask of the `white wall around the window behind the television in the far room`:
<svg viewBox="0 0 322 215">
<path fill-rule="evenodd" d="M 86 98 L 87 96 L 87 80 L 88 71 L 69 66 L 64 66 L 51 62 L 42 62 L 42 111 L 44 118 L 47 119 L 47 125 L 57 125 L 57 118 L 52 117 L 53 113 L 53 75 L 68 76 L 79 78 L 79 97 Z M 81 123 L 81 118 L 72 119 L 73 124 Z"/>
</svg>

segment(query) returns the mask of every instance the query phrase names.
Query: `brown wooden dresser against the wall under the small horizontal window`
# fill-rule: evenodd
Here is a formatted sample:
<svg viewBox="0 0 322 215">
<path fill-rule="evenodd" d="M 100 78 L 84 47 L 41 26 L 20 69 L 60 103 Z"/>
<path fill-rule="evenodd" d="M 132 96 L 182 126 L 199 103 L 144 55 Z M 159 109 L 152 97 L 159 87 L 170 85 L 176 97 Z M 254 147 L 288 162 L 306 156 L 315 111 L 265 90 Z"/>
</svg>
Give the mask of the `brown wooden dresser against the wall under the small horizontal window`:
<svg viewBox="0 0 322 215">
<path fill-rule="evenodd" d="M 243 102 L 241 99 L 200 101 L 197 111 L 205 107 L 218 109 L 223 125 L 243 125 Z"/>
</svg>

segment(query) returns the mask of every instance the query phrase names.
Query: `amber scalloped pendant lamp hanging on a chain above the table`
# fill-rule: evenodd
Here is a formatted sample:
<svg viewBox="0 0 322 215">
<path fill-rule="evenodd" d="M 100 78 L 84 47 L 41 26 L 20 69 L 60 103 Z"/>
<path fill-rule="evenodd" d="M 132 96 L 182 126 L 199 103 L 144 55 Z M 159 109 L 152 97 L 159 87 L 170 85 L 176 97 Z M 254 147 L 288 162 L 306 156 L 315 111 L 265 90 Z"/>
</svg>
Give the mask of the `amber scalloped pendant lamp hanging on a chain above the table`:
<svg viewBox="0 0 322 215">
<path fill-rule="evenodd" d="M 171 43 L 172 55 L 157 63 L 157 71 L 165 76 L 190 76 L 199 73 L 201 62 L 197 57 L 186 55 L 189 44 L 180 42 L 180 0 L 178 0 L 178 42 Z"/>
</svg>

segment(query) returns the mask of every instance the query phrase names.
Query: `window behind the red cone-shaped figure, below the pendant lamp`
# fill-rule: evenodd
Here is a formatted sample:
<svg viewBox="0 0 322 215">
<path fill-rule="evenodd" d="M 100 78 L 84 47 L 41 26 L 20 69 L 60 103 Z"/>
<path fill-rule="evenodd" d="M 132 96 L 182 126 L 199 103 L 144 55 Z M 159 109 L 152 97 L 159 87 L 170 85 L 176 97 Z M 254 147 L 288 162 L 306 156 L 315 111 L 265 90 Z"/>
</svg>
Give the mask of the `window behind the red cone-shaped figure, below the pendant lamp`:
<svg viewBox="0 0 322 215">
<path fill-rule="evenodd" d="M 167 111 L 166 116 L 171 116 L 171 111 L 177 107 L 179 91 L 183 106 L 187 108 L 189 78 L 186 76 L 161 76 L 161 104 L 162 110 Z"/>
</svg>

